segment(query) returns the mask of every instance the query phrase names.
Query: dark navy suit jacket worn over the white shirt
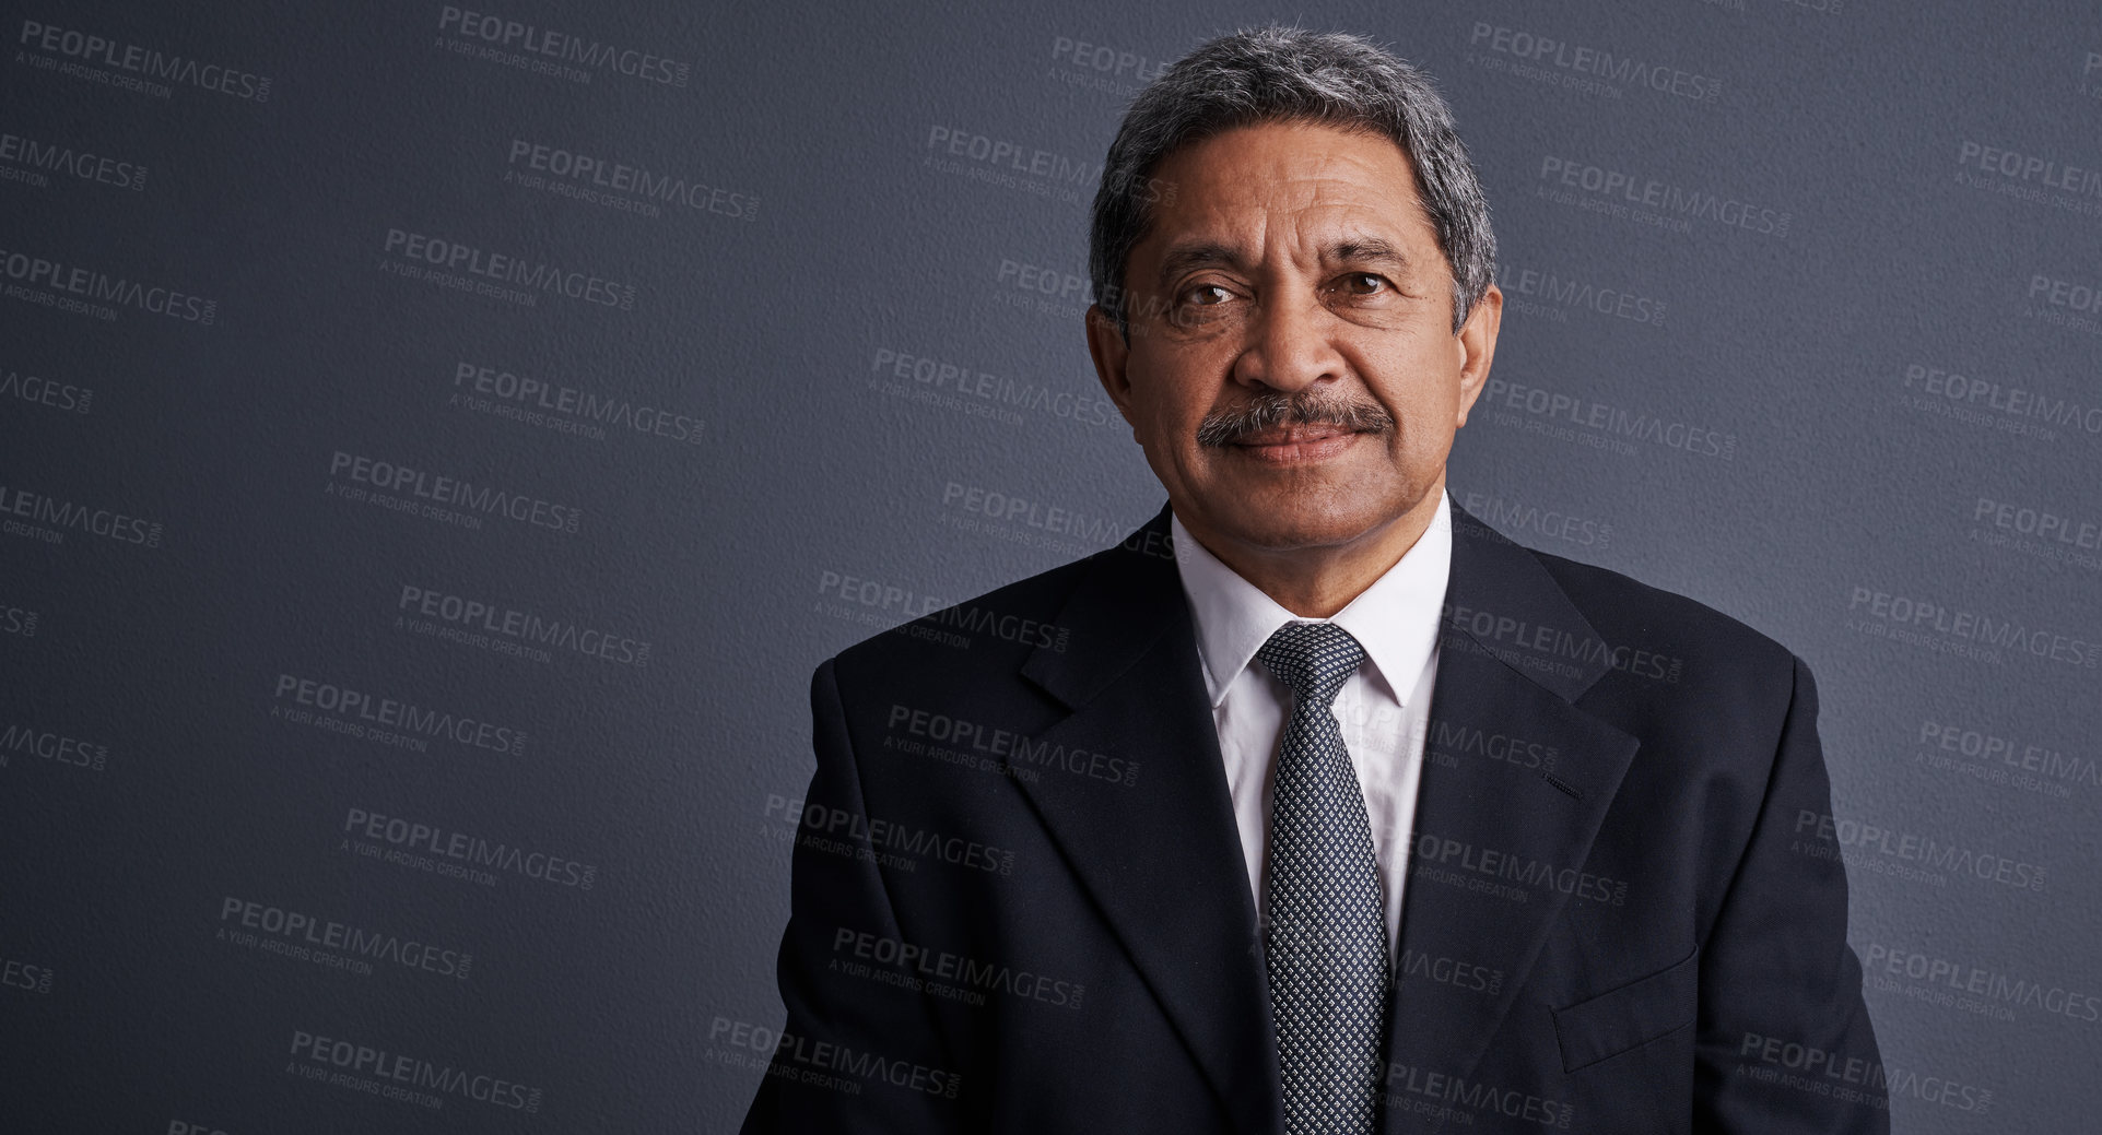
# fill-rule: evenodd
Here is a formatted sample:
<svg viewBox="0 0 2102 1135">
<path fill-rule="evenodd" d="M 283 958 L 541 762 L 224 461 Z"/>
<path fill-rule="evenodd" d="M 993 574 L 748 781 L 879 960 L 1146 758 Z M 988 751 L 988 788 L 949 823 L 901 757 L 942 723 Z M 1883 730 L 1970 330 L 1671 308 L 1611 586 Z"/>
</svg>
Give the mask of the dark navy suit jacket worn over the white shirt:
<svg viewBox="0 0 2102 1135">
<path fill-rule="evenodd" d="M 1816 687 L 1455 504 L 1381 1131 L 1883 1133 Z M 1282 1131 L 1169 509 L 862 641 L 744 1131 Z"/>
</svg>

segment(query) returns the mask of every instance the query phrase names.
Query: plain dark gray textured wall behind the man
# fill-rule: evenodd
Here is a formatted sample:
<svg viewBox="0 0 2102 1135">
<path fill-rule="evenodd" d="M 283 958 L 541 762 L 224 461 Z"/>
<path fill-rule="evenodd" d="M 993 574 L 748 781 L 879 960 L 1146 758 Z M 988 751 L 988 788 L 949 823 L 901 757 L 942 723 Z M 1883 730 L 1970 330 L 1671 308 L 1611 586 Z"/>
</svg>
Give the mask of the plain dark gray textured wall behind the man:
<svg viewBox="0 0 2102 1135">
<path fill-rule="evenodd" d="M 809 673 L 1160 504 L 1087 202 L 1265 19 L 1476 151 L 1455 496 L 1816 670 L 1898 1129 L 2102 1106 L 2091 2 L 320 8 L 4 13 L 0 1127 L 731 1131 Z"/>
</svg>

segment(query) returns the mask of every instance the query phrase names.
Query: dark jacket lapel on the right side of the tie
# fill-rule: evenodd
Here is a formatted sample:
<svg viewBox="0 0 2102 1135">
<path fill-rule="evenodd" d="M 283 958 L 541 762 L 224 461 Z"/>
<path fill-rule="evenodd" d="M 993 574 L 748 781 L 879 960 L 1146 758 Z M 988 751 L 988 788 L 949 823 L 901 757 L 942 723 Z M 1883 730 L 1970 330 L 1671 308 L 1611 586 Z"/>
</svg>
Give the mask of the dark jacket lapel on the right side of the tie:
<svg viewBox="0 0 2102 1135">
<path fill-rule="evenodd" d="M 1400 1101 L 1442 1095 L 1434 1074 L 1474 1076 L 1572 891 L 1612 902 L 1576 872 L 1637 746 L 1572 704 L 1612 666 L 1610 649 L 1530 551 L 1459 504 L 1438 643 L 1387 1007 L 1387 1091 Z M 1427 973 L 1440 958 L 1501 982 L 1440 982 Z M 1387 1110 L 1387 1135 L 1440 1127 Z"/>
</svg>

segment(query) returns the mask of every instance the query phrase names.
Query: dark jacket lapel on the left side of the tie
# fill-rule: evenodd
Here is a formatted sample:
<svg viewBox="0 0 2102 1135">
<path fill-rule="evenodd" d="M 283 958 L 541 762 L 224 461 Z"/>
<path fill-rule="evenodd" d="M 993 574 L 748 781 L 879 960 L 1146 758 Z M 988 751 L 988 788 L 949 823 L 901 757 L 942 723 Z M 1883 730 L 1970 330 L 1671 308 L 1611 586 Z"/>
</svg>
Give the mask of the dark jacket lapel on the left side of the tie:
<svg viewBox="0 0 2102 1135">
<path fill-rule="evenodd" d="M 1070 713 L 1030 738 L 1137 763 L 1129 782 L 1015 780 L 1249 1135 L 1282 1129 L 1255 900 L 1234 826 L 1169 509 L 1091 557 L 1057 614 L 1066 649 L 1022 675 Z"/>
</svg>

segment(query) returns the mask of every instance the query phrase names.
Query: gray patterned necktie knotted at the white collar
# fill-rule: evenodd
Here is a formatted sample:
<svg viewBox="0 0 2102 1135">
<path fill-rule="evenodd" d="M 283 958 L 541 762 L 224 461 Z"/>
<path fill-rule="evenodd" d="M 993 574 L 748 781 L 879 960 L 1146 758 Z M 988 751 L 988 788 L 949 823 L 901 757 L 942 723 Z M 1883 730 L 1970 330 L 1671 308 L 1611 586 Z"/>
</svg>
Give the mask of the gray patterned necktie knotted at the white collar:
<svg viewBox="0 0 2102 1135">
<path fill-rule="evenodd" d="M 1333 622 L 1255 658 L 1293 689 L 1270 811 L 1270 1011 L 1286 1135 L 1371 1135 L 1387 1021 L 1387 921 L 1364 792 L 1328 706 L 1364 660 Z"/>
</svg>

